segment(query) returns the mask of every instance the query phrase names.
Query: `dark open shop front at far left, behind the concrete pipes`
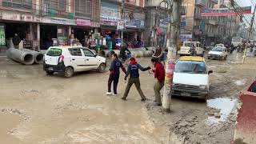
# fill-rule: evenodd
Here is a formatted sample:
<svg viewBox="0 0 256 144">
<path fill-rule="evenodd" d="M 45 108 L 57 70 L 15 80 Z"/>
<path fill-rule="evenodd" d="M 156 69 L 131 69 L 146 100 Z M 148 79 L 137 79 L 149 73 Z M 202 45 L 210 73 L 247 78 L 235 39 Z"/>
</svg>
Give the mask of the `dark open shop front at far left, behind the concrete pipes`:
<svg viewBox="0 0 256 144">
<path fill-rule="evenodd" d="M 5 52 L 6 49 L 27 48 L 38 49 L 38 22 L 41 18 L 32 16 L 30 14 L 18 14 L 13 12 L 1 12 L 0 22 L 0 51 Z M 20 39 L 18 45 L 14 46 L 13 38 Z"/>
</svg>

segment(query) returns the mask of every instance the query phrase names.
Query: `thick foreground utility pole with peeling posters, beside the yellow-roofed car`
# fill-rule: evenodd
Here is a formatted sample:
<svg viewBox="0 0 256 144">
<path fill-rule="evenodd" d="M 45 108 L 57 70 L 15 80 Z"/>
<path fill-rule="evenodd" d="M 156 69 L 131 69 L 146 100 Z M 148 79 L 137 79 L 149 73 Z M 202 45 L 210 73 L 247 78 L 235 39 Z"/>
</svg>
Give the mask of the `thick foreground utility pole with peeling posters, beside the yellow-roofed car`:
<svg viewBox="0 0 256 144">
<path fill-rule="evenodd" d="M 162 107 L 165 111 L 170 111 L 170 89 L 172 86 L 172 80 L 174 75 L 174 61 L 176 58 L 178 31 L 180 22 L 180 10 L 182 9 L 182 0 L 173 0 L 172 5 L 170 0 L 168 1 L 171 7 L 170 13 L 170 47 L 168 47 L 167 61 L 166 61 L 166 79 L 164 85 L 164 92 L 162 98 Z M 168 42 L 168 40 L 167 40 Z"/>
</svg>

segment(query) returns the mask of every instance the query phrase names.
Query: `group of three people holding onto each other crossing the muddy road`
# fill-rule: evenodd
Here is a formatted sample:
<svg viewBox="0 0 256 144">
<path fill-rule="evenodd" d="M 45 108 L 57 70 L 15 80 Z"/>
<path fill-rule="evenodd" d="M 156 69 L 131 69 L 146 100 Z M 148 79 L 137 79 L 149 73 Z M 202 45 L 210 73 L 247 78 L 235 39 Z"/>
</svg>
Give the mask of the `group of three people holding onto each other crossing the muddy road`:
<svg viewBox="0 0 256 144">
<path fill-rule="evenodd" d="M 154 65 L 154 68 L 151 68 L 150 66 L 144 68 L 138 62 L 136 62 L 135 58 L 130 58 L 130 63 L 128 65 L 127 70 L 122 65 L 122 62 L 118 59 L 118 54 L 114 54 L 114 51 L 111 53 L 112 62 L 110 65 L 110 77 L 108 80 L 108 92 L 107 95 L 113 94 L 117 95 L 117 87 L 118 87 L 118 80 L 120 75 L 120 69 L 122 69 L 123 73 L 126 74 L 125 80 L 128 79 L 125 93 L 122 96 L 122 100 L 126 101 L 126 98 L 129 94 L 130 87 L 135 85 L 136 89 L 138 90 L 138 93 L 140 94 L 142 101 L 146 101 L 146 97 L 142 92 L 141 89 L 141 83 L 139 79 L 139 72 L 138 70 L 146 71 L 146 70 L 152 70 L 154 72 L 154 78 L 157 79 L 157 82 L 154 84 L 154 94 L 155 94 L 155 102 L 154 105 L 161 106 L 161 94 L 160 90 L 164 86 L 164 79 L 165 79 L 165 70 L 164 66 L 161 62 L 158 61 L 158 58 L 152 58 L 151 62 Z M 114 93 L 111 93 L 111 85 L 113 83 Z"/>
</svg>

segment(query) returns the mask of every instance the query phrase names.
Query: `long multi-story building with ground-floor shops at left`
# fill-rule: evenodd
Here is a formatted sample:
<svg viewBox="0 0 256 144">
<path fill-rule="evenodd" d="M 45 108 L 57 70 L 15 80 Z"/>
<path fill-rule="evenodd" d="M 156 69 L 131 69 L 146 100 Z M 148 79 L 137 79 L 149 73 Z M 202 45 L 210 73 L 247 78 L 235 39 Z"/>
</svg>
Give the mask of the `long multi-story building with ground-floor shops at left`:
<svg viewBox="0 0 256 144">
<path fill-rule="evenodd" d="M 69 45 L 78 39 L 84 46 L 118 38 L 118 21 L 126 23 L 124 38 L 142 38 L 144 0 L 0 0 L 0 51 L 11 47 L 18 34 L 22 47 L 47 49 L 55 42 Z M 100 43 L 101 42 L 101 43 Z"/>
</svg>

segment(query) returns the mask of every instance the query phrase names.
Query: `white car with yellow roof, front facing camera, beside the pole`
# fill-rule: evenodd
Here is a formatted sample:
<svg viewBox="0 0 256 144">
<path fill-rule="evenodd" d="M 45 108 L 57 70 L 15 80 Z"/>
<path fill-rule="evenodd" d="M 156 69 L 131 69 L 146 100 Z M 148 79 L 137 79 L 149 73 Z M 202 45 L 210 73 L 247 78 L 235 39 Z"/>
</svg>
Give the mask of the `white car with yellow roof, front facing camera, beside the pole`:
<svg viewBox="0 0 256 144">
<path fill-rule="evenodd" d="M 174 96 L 207 99 L 209 94 L 209 74 L 202 57 L 184 56 L 175 64 L 171 94 Z"/>
</svg>

